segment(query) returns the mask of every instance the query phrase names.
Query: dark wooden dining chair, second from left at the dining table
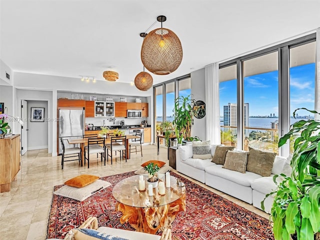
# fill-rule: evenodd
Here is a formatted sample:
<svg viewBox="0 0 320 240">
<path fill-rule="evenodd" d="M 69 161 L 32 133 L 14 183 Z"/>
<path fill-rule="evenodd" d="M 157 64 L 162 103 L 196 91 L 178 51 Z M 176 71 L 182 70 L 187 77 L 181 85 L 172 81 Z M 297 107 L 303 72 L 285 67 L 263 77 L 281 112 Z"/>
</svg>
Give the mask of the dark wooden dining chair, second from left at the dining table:
<svg viewBox="0 0 320 240">
<path fill-rule="evenodd" d="M 84 165 L 85 160 L 88 160 L 88 168 L 89 168 L 89 158 L 90 154 L 96 153 L 101 155 L 104 158 L 105 165 L 105 138 L 104 137 L 89 137 L 87 147 L 84 148 Z"/>
</svg>

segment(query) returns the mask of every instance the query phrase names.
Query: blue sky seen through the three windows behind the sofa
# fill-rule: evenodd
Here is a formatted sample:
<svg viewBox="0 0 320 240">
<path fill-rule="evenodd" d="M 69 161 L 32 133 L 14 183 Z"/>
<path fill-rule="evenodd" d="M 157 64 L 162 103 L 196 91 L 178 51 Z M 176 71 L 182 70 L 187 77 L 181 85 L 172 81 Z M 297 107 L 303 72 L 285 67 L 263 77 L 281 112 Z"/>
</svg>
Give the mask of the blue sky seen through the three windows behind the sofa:
<svg viewBox="0 0 320 240">
<path fill-rule="evenodd" d="M 290 115 L 299 107 L 314 109 L 315 63 L 290 68 Z M 220 82 L 220 116 L 223 105 L 236 103 L 236 80 Z M 249 103 L 249 115 L 278 115 L 278 71 L 244 78 L 244 102 Z M 308 115 L 299 110 L 298 115 Z"/>
</svg>

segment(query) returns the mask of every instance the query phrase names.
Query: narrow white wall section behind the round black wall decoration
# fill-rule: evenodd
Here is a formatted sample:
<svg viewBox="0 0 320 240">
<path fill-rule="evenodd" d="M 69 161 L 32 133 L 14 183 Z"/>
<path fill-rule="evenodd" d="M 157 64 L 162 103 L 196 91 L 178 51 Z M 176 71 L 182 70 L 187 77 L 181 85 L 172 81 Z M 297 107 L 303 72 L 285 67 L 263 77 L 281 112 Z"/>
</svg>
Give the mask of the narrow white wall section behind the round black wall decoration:
<svg viewBox="0 0 320 240">
<path fill-rule="evenodd" d="M 193 98 L 197 100 L 202 100 L 205 103 L 205 81 L 204 81 L 204 68 L 191 72 L 191 94 Z M 205 117 L 201 119 L 193 118 L 193 126 L 191 128 L 191 135 L 198 136 L 200 140 L 205 139 Z"/>
</svg>

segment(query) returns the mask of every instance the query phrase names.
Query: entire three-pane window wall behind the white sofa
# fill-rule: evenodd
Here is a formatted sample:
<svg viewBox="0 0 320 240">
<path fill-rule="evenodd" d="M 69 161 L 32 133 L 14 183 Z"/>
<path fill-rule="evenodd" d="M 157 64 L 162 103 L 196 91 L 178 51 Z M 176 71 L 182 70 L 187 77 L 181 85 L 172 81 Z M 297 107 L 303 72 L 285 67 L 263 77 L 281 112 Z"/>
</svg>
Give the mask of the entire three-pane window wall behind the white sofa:
<svg viewBox="0 0 320 240">
<path fill-rule="evenodd" d="M 236 66 L 236 73 L 221 76 L 230 66 Z M 230 133 L 239 148 L 251 146 L 287 156 L 290 144 L 279 151 L 280 135 L 294 121 L 314 117 L 299 110 L 293 119 L 292 112 L 299 107 L 314 109 L 315 33 L 228 60 L 219 68 L 221 130 L 235 125 L 236 134 Z M 224 89 L 232 81 L 236 92 L 228 94 Z"/>
</svg>

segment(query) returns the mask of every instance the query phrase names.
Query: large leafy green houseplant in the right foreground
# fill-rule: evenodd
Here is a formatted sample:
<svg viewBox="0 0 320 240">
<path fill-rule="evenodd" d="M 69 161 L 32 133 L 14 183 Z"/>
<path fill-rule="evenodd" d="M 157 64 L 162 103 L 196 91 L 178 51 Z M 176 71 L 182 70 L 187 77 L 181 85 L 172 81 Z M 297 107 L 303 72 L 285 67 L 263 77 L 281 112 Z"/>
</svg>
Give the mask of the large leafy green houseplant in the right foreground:
<svg viewBox="0 0 320 240">
<path fill-rule="evenodd" d="M 319 114 L 317 111 L 309 112 Z M 274 175 L 277 189 L 271 207 L 273 233 L 276 240 L 320 239 L 320 121 L 299 120 L 278 142 L 282 146 L 290 137 L 296 137 L 290 165 L 290 176 Z M 279 179 L 280 178 L 280 179 Z M 263 201 L 261 202 L 262 209 Z"/>
</svg>

